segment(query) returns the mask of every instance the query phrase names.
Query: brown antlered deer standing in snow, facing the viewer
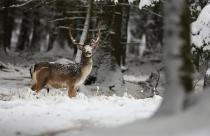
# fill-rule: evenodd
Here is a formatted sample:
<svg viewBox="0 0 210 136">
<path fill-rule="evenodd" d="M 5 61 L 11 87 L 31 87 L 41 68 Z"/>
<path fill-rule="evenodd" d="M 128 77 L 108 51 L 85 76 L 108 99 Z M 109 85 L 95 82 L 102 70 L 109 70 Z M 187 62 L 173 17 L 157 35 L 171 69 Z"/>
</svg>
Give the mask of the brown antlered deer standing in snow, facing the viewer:
<svg viewBox="0 0 210 136">
<path fill-rule="evenodd" d="M 55 62 L 39 62 L 30 68 L 32 81 L 31 89 L 38 93 L 44 87 L 49 88 L 67 88 L 70 98 L 76 97 L 78 88 L 84 83 L 92 71 L 92 50 L 98 46 L 100 39 L 100 30 L 96 39 L 91 39 L 89 44 L 80 44 L 73 37 L 71 27 L 69 27 L 69 36 L 74 45 L 81 50 L 80 63 L 72 62 L 69 64 L 59 64 Z"/>
</svg>

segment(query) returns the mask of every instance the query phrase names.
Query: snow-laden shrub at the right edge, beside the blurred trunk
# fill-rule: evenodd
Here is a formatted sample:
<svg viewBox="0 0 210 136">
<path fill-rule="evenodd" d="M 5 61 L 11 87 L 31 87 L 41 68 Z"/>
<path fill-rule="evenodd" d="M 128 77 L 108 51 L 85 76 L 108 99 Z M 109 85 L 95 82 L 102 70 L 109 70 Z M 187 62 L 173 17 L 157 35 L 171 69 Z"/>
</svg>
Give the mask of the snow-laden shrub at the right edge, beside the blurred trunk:
<svg viewBox="0 0 210 136">
<path fill-rule="evenodd" d="M 199 69 L 210 59 L 210 5 L 203 8 L 191 28 L 193 62 Z"/>
</svg>

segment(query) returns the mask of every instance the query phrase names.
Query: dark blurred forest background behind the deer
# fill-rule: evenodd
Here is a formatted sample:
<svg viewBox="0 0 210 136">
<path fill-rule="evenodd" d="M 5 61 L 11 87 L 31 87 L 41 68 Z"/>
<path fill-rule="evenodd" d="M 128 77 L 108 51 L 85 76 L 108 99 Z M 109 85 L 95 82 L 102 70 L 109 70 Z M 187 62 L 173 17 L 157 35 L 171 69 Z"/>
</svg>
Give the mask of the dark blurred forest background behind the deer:
<svg viewBox="0 0 210 136">
<path fill-rule="evenodd" d="M 128 0 L 119 0 L 118 3 L 110 0 L 1 0 L 1 61 L 28 66 L 61 58 L 75 60 L 77 48 L 69 38 L 69 26 L 71 25 L 73 35 L 79 41 L 84 23 L 89 19 L 85 44 L 96 37 L 99 24 L 101 39 L 94 52 L 94 68 L 86 85 L 103 84 L 102 86 L 114 93 L 124 92 L 123 75 L 143 73 L 149 75 L 149 78 L 146 85 L 141 87 L 148 91 L 139 97 L 153 96 L 152 88 L 157 87 L 158 82 L 162 86 L 165 84 L 165 79 L 161 78 L 159 81 L 159 78 L 164 69 L 163 5 L 166 1 L 160 0 L 142 9 L 139 9 L 139 3 L 138 0 L 133 3 Z M 197 19 L 207 3 L 207 0 L 188 1 L 190 23 Z M 90 4 L 91 16 L 87 18 Z M 202 67 L 202 53 L 198 49 L 192 57 L 198 71 Z M 204 59 L 207 60 L 209 55 L 207 53 L 203 56 L 207 56 Z M 139 83 L 135 84 L 139 88 Z M 135 85 L 128 86 L 130 88 Z M 136 92 L 136 89 L 129 90 Z M 162 92 L 164 88 L 160 87 L 159 90 Z"/>
</svg>

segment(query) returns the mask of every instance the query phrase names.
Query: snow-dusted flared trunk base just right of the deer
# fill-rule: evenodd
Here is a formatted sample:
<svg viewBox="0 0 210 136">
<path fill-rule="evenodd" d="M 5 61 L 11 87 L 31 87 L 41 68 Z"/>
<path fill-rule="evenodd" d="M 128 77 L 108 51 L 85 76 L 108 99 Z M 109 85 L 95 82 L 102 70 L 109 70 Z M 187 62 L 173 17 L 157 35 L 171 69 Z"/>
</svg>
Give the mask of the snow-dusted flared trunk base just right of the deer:
<svg viewBox="0 0 210 136">
<path fill-rule="evenodd" d="M 123 75 L 111 50 L 108 45 L 96 49 L 90 76 L 95 77 L 96 81 L 93 86 L 99 86 L 99 93 L 123 96 L 126 91 L 123 84 Z"/>
</svg>

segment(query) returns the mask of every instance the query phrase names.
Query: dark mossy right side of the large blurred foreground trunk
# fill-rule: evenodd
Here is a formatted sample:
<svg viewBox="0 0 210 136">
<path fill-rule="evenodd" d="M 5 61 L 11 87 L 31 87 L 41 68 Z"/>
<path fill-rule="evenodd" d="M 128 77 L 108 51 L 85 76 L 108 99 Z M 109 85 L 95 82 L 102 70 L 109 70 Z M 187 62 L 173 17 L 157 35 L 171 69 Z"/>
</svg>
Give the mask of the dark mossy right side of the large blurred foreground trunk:
<svg viewBox="0 0 210 136">
<path fill-rule="evenodd" d="M 188 0 L 185 0 L 184 10 L 181 14 L 181 39 L 183 41 L 181 47 L 181 57 L 182 57 L 182 67 L 181 72 L 183 72 L 180 77 L 182 84 L 185 88 L 185 92 L 191 93 L 193 91 L 193 78 L 192 74 L 194 72 L 192 64 L 192 54 L 191 54 L 191 26 L 190 26 L 190 10 L 188 5 Z"/>
</svg>

